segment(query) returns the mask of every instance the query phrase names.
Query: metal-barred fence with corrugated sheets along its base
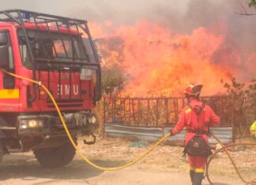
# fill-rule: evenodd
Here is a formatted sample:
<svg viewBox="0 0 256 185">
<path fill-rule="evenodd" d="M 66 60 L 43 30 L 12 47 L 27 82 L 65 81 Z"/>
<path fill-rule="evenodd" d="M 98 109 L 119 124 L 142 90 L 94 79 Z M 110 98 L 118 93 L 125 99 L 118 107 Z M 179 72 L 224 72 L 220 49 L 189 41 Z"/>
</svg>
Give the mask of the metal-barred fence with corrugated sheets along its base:
<svg viewBox="0 0 256 185">
<path fill-rule="evenodd" d="M 201 100 L 221 118 L 220 128 L 213 129 L 215 134 L 225 143 L 234 142 L 233 98 L 212 96 Z M 111 136 L 156 139 L 174 127 L 186 104 L 186 98 L 104 98 L 105 131 Z M 168 140 L 175 143 L 183 141 L 183 132 Z"/>
</svg>

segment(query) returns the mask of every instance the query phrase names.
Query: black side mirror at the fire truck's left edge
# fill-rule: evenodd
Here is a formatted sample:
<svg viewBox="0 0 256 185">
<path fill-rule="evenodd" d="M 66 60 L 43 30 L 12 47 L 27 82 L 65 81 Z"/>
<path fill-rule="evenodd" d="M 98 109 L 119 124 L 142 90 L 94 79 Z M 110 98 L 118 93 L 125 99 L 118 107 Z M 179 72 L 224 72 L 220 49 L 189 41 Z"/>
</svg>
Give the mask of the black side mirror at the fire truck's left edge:
<svg viewBox="0 0 256 185">
<path fill-rule="evenodd" d="M 8 33 L 0 32 L 0 68 L 9 68 Z"/>
</svg>

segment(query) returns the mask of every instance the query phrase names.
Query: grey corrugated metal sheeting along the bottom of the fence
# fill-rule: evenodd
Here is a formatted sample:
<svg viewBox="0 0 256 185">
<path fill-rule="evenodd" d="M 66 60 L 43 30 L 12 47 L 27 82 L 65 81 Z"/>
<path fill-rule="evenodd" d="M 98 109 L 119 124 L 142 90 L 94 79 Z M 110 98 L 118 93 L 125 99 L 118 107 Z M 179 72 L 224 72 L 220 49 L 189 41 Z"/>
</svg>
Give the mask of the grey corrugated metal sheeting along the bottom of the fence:
<svg viewBox="0 0 256 185">
<path fill-rule="evenodd" d="M 158 140 L 163 136 L 162 128 L 147 128 L 147 127 L 131 127 L 131 126 L 122 126 L 116 124 L 105 124 L 106 134 L 112 137 L 127 137 L 140 140 Z M 232 142 L 232 127 L 225 128 L 210 128 L 210 130 L 220 139 L 223 143 Z M 171 128 L 164 128 L 164 135 L 168 134 Z M 186 131 L 182 131 L 179 135 L 175 135 L 169 139 L 166 139 L 166 142 L 171 143 L 183 143 L 184 135 Z M 210 143 L 216 143 L 216 140 L 212 137 L 209 138 Z"/>
</svg>

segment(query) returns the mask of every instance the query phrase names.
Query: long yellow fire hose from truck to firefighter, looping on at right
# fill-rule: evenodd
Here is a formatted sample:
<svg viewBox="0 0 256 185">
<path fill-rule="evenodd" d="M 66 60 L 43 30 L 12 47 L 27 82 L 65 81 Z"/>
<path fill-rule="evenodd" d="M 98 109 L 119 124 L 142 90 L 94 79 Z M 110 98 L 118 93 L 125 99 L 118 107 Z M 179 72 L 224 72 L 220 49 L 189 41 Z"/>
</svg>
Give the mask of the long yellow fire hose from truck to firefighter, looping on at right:
<svg viewBox="0 0 256 185">
<path fill-rule="evenodd" d="M 85 156 L 85 154 L 82 154 L 81 153 L 81 150 L 78 149 L 77 145 L 75 144 L 75 142 L 73 141 L 73 138 L 72 136 L 70 135 L 70 131 L 69 129 L 66 127 L 66 123 L 65 123 L 65 120 L 63 119 L 62 117 L 62 113 L 60 112 L 59 108 L 58 108 L 58 105 L 57 103 L 55 102 L 55 98 L 53 98 L 53 96 L 51 95 L 50 91 L 48 91 L 47 87 L 45 87 L 41 82 L 38 82 L 38 81 L 35 81 L 35 80 L 31 80 L 31 79 L 28 79 L 24 76 L 18 76 L 18 75 L 15 75 L 13 74 L 12 72 L 7 72 L 6 70 L 0 68 L 0 70 L 2 70 L 2 72 L 5 72 L 6 74 L 9 74 L 10 76 L 14 76 L 16 78 L 19 78 L 21 80 L 27 80 L 27 81 L 30 81 L 32 83 L 36 83 L 37 85 L 39 85 L 40 87 L 43 87 L 44 91 L 47 92 L 47 94 L 49 95 L 49 97 L 51 98 L 51 101 L 54 103 L 55 105 L 55 108 L 58 112 L 58 116 L 60 117 L 61 121 L 62 121 L 62 125 L 66 131 L 66 134 L 68 136 L 68 138 L 70 139 L 70 142 L 72 143 L 73 147 L 77 150 L 77 153 L 89 164 L 89 165 L 92 165 L 93 167 L 97 168 L 97 169 L 100 169 L 100 170 L 104 170 L 104 171 L 115 171 L 115 170 L 119 170 L 119 169 L 122 169 L 122 168 L 127 168 L 129 167 L 130 165 L 134 165 L 137 161 L 140 161 L 143 157 L 145 157 L 147 154 L 149 154 L 149 152 L 151 152 L 154 148 L 156 148 L 156 146 L 158 146 L 161 142 L 164 142 L 165 139 L 167 139 L 168 137 L 170 137 L 171 134 L 168 134 L 168 135 L 165 135 L 163 138 L 161 138 L 158 142 L 156 142 L 154 145 L 152 145 L 149 150 L 145 151 L 144 154 L 142 154 L 141 156 L 135 158 L 134 161 L 130 161 L 129 163 L 127 163 L 126 165 L 122 165 L 122 166 L 119 166 L 119 167 L 111 167 L 111 168 L 105 168 L 105 167 L 101 167 L 99 165 L 96 165 L 94 164 L 92 161 L 88 160 L 88 157 Z M 213 135 L 213 134 L 212 134 Z M 216 139 L 217 142 L 220 143 L 220 145 L 222 146 L 220 148 L 220 150 L 216 150 L 216 152 L 213 154 L 212 157 L 209 158 L 209 162 L 213 159 L 214 155 L 217 153 L 217 152 L 220 152 L 222 150 L 224 150 L 226 152 L 226 154 L 228 154 L 228 158 L 230 159 L 230 161 L 232 161 L 232 165 L 234 166 L 235 168 L 235 172 L 238 174 L 239 178 L 244 182 L 244 183 L 251 183 L 253 182 L 252 181 L 246 181 L 245 179 L 243 179 L 243 177 L 240 175 L 239 171 L 238 171 L 238 168 L 236 167 L 235 165 L 235 162 L 233 161 L 231 155 L 229 154 L 228 150 L 226 149 L 228 146 L 224 146 L 222 142 L 220 142 L 219 139 L 216 138 L 215 135 L 213 135 L 213 138 Z M 239 145 L 256 145 L 256 143 L 252 142 L 252 143 L 239 143 Z M 208 168 L 207 168 L 208 169 Z M 206 176 L 207 176 L 207 179 L 209 180 L 209 183 L 210 184 L 213 184 L 210 179 L 209 179 L 209 176 L 208 176 L 208 170 L 206 170 Z"/>
</svg>

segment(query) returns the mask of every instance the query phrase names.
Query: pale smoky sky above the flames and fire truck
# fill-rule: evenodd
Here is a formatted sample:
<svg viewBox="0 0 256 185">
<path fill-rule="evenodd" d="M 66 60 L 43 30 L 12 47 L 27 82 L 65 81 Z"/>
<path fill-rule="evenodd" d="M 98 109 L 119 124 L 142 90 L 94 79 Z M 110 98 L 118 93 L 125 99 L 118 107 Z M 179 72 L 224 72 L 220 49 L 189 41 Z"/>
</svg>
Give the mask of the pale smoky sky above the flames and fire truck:
<svg viewBox="0 0 256 185">
<path fill-rule="evenodd" d="M 64 17 L 113 24 L 135 24 L 142 19 L 186 33 L 224 21 L 236 32 L 256 31 L 255 17 L 241 16 L 247 0 L 0 0 L 1 9 L 28 9 Z M 247 7 L 246 7 L 247 8 Z M 251 10 L 255 12 L 254 10 Z M 241 31 L 240 28 L 246 28 Z"/>
</svg>

